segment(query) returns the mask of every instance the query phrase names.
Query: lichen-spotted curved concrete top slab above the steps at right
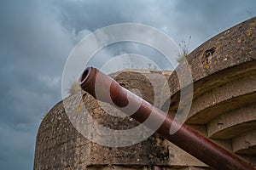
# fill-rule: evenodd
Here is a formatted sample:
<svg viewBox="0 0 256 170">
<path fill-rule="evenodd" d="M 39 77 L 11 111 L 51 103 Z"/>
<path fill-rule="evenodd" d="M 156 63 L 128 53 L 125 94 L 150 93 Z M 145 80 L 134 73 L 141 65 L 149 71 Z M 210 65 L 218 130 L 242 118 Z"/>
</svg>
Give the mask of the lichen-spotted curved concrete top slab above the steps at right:
<svg viewBox="0 0 256 170">
<path fill-rule="evenodd" d="M 221 86 L 256 70 L 256 19 L 247 20 L 204 42 L 187 57 L 194 81 L 194 95 Z M 183 63 L 177 70 L 184 72 Z M 221 76 L 219 76 L 221 75 Z M 184 75 L 183 75 L 184 76 Z M 169 79 L 172 107 L 177 107 L 179 82 L 176 71 Z"/>
</svg>

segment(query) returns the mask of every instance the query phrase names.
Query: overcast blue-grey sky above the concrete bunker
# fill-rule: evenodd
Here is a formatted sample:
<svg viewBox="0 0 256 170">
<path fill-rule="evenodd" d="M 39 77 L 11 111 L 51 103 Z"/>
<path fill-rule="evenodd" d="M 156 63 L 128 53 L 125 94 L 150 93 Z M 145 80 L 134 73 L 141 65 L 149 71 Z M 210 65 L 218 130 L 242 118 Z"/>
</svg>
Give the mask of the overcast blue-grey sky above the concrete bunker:
<svg viewBox="0 0 256 170">
<path fill-rule="evenodd" d="M 1 169 L 32 169 L 39 124 L 61 100 L 67 56 L 91 31 L 146 24 L 177 43 L 191 37 L 192 50 L 255 14 L 255 0 L 1 0 Z M 119 47 L 112 49 L 114 55 Z"/>
</svg>

